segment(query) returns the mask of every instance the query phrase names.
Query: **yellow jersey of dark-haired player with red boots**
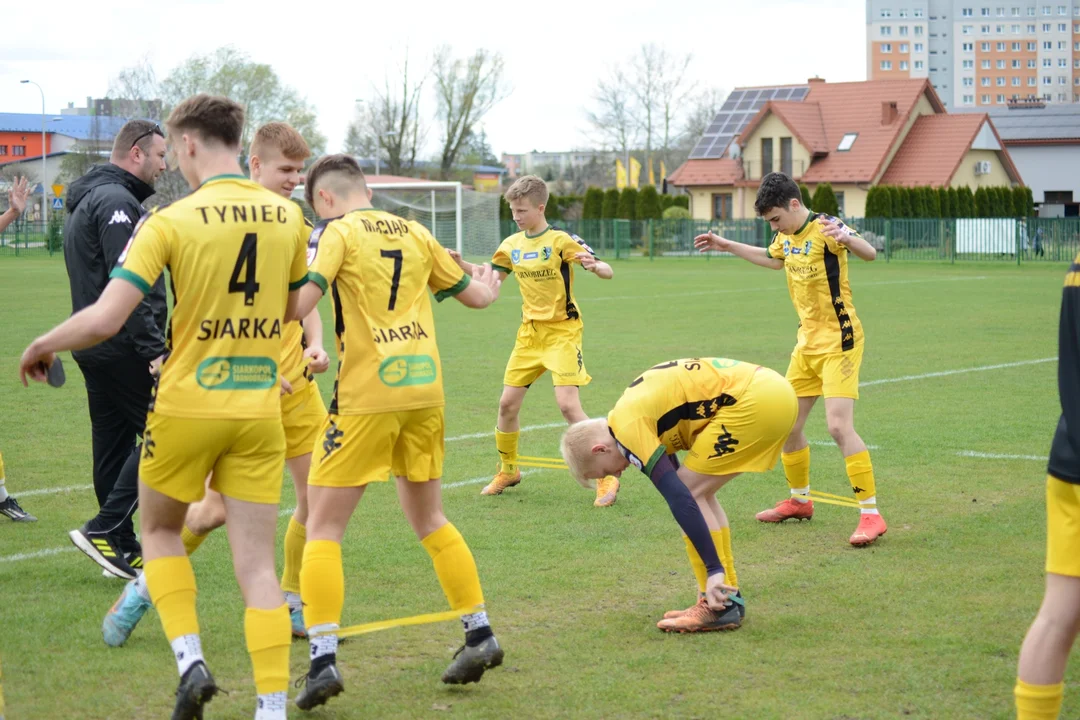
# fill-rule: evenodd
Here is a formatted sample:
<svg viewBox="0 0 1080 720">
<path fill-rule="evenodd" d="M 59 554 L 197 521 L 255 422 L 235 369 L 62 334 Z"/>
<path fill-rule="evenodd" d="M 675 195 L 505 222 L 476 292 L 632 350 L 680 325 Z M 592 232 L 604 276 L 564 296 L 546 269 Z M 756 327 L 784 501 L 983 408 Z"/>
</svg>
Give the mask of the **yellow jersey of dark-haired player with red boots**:
<svg viewBox="0 0 1080 720">
<path fill-rule="evenodd" d="M 822 231 L 819 218 L 859 235 L 838 218 L 811 213 L 798 231 L 791 235 L 778 232 L 766 249 L 770 258 L 784 261 L 787 291 L 799 315 L 795 351 L 804 355 L 839 353 L 863 341 L 863 326 L 848 285 L 848 248 Z"/>
</svg>

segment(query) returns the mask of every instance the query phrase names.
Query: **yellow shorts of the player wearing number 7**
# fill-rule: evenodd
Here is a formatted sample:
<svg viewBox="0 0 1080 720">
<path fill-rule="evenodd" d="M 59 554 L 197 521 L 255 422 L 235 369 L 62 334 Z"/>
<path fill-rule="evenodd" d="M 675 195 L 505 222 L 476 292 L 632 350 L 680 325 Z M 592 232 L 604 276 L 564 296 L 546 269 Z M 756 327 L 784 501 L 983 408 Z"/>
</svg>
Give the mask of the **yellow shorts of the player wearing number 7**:
<svg viewBox="0 0 1080 720">
<path fill-rule="evenodd" d="M 308 485 L 355 488 L 395 477 L 427 483 L 443 476 L 443 408 L 332 415 L 311 456 Z"/>
</svg>

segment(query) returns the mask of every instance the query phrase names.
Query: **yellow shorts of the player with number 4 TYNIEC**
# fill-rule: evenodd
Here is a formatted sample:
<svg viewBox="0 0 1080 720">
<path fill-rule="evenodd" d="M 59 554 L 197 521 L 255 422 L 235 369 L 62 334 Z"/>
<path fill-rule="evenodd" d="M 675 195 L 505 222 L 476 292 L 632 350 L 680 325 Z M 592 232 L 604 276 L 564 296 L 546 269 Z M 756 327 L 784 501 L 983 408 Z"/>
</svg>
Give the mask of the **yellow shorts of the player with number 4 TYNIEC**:
<svg viewBox="0 0 1080 720">
<path fill-rule="evenodd" d="M 206 476 L 222 495 L 276 504 L 285 468 L 285 430 L 278 418 L 167 418 L 150 412 L 139 480 L 184 503 L 202 500 Z"/>
</svg>

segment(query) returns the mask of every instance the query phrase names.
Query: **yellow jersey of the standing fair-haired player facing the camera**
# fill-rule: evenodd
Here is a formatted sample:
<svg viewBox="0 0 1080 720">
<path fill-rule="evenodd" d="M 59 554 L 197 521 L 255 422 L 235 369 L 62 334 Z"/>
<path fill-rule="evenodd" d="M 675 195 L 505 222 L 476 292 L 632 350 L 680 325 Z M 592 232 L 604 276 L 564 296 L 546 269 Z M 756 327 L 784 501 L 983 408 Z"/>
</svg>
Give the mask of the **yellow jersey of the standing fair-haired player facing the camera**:
<svg viewBox="0 0 1080 720">
<path fill-rule="evenodd" d="M 491 267 L 514 273 L 522 290 L 522 321 L 579 320 L 573 300 L 573 263 L 579 253 L 595 255 L 571 233 L 549 227 L 539 235 L 514 233 L 499 245 Z"/>
</svg>

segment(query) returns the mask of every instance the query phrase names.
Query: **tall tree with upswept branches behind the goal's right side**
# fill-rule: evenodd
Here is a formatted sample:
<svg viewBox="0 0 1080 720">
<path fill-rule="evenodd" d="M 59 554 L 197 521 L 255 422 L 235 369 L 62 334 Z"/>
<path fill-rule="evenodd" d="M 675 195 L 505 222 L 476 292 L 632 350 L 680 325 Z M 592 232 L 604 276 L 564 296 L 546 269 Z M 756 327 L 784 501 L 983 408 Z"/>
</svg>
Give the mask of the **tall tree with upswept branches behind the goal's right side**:
<svg viewBox="0 0 1080 720">
<path fill-rule="evenodd" d="M 432 71 L 442 122 L 440 175 L 446 178 L 473 126 L 509 93 L 502 81 L 502 55 L 480 49 L 468 59 L 455 58 L 443 45 Z"/>
</svg>

